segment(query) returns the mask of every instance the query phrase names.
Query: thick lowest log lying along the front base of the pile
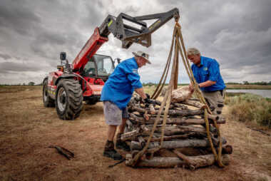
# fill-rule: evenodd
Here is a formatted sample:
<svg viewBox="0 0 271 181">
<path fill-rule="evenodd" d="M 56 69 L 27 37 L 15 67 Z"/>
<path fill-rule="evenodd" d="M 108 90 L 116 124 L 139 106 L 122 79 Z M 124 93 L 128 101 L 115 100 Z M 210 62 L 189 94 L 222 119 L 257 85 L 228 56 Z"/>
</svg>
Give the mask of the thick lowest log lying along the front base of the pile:
<svg viewBox="0 0 271 181">
<path fill-rule="evenodd" d="M 200 156 L 189 156 L 188 157 L 191 162 L 195 163 L 193 165 L 195 168 L 198 167 L 206 167 L 215 164 L 215 157 L 213 154 L 210 155 L 200 155 Z M 230 163 L 229 155 L 222 155 L 223 165 L 228 165 Z M 131 165 L 131 155 L 126 155 L 126 165 Z M 153 157 L 150 160 L 141 160 L 136 165 L 137 167 L 189 167 L 189 165 L 180 160 L 178 157 Z"/>
</svg>

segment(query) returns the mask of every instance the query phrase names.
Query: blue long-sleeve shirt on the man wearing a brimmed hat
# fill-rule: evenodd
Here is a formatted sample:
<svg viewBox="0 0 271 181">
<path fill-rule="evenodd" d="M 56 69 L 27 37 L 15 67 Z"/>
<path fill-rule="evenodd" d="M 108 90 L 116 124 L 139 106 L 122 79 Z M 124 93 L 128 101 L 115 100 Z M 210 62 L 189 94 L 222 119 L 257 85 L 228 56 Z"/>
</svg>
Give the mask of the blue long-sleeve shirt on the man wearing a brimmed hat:
<svg viewBox="0 0 271 181">
<path fill-rule="evenodd" d="M 108 81 L 103 86 L 101 100 L 111 101 L 118 108 L 124 109 L 136 88 L 142 88 L 142 83 L 138 75 L 138 63 L 133 57 L 119 63 L 109 76 Z"/>
</svg>

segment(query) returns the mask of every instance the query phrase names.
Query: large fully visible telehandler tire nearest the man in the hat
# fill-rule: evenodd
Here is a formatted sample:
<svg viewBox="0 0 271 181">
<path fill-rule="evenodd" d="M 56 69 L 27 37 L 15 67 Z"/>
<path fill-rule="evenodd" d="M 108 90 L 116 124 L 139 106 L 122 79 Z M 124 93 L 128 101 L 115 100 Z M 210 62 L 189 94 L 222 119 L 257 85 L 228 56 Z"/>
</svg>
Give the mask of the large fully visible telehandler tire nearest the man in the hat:
<svg viewBox="0 0 271 181">
<path fill-rule="evenodd" d="M 62 120 L 78 118 L 83 108 L 83 91 L 78 81 L 63 79 L 56 88 L 56 112 Z"/>
</svg>

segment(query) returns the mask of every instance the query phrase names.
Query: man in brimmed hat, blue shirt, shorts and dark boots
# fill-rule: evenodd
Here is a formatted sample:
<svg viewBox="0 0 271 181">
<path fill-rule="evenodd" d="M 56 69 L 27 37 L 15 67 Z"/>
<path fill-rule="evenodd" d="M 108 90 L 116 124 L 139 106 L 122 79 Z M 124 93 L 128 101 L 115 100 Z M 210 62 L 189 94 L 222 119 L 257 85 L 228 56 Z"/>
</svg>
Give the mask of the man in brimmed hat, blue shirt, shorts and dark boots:
<svg viewBox="0 0 271 181">
<path fill-rule="evenodd" d="M 121 160 L 122 156 L 114 149 L 113 138 L 119 126 L 117 135 L 116 148 L 129 151 L 129 146 L 121 141 L 121 134 L 126 127 L 128 118 L 127 105 L 131 100 L 133 91 L 140 95 L 141 98 L 148 103 L 150 100 L 145 95 L 138 68 L 145 66 L 145 63 L 150 63 L 148 54 L 142 51 L 133 52 L 133 58 L 122 61 L 115 68 L 108 81 L 103 86 L 101 100 L 103 100 L 103 113 L 106 123 L 108 124 L 108 140 L 103 152 L 106 157 L 111 157 L 113 160 Z"/>
</svg>

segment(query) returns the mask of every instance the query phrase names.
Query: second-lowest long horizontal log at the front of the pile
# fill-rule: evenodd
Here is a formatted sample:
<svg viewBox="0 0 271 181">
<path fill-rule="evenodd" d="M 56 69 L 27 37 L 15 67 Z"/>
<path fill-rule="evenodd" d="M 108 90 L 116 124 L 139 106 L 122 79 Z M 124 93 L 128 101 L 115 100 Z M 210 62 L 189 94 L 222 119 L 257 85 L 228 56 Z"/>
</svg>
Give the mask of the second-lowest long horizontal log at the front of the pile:
<svg viewBox="0 0 271 181">
<path fill-rule="evenodd" d="M 148 145 L 148 148 L 156 148 L 160 145 L 160 142 L 152 142 Z M 217 145 L 217 143 L 214 145 Z M 164 141 L 161 148 L 172 149 L 172 148 L 206 148 L 209 147 L 208 140 L 174 140 Z M 131 150 L 141 150 L 142 147 L 139 142 L 132 141 L 130 145 Z"/>
</svg>

